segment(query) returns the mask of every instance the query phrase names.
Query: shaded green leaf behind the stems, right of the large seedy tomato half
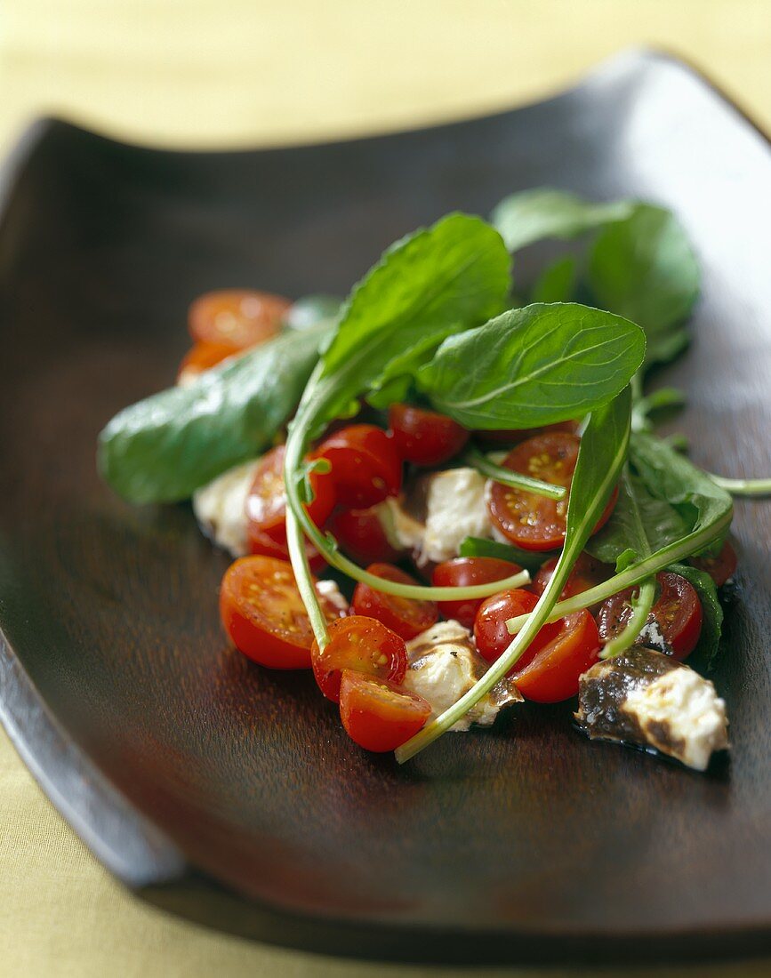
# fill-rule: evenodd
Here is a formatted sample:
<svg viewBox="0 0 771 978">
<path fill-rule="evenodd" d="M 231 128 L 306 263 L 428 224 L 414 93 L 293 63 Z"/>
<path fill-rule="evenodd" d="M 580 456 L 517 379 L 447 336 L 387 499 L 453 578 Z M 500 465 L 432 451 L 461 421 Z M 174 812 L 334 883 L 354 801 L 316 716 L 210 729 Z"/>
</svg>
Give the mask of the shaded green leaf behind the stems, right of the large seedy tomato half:
<svg viewBox="0 0 771 978">
<path fill-rule="evenodd" d="M 618 500 L 611 518 L 586 545 L 603 563 L 615 563 L 617 573 L 668 547 L 685 536 L 685 520 L 669 503 L 652 496 L 643 480 L 630 472 L 618 483 Z"/>
</svg>

